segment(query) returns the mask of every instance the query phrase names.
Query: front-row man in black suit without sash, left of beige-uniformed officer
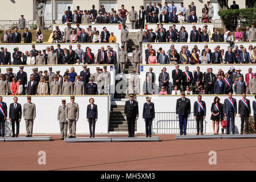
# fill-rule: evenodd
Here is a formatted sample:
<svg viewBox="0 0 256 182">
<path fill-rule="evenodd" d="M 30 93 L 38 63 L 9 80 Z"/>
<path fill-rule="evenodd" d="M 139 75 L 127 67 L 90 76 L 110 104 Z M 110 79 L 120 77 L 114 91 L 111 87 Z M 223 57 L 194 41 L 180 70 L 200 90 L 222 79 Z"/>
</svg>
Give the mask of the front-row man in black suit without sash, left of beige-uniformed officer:
<svg viewBox="0 0 256 182">
<path fill-rule="evenodd" d="M 11 122 L 11 130 L 13 131 L 13 136 L 18 137 L 19 135 L 19 122 L 22 118 L 22 106 L 18 103 L 18 97 L 13 98 L 14 103 L 10 104 L 9 110 L 9 120 Z M 15 134 L 15 123 L 16 123 L 16 134 Z"/>
</svg>

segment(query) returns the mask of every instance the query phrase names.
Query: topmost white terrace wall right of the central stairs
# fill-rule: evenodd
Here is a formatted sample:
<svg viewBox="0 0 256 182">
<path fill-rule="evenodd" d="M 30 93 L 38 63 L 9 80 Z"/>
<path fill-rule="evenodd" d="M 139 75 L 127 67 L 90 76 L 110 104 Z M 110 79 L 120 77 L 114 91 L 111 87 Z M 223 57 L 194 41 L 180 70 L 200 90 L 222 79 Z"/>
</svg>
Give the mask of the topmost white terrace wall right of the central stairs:
<svg viewBox="0 0 256 182">
<path fill-rule="evenodd" d="M 205 25 L 205 23 L 177 23 L 177 24 L 176 23 L 164 23 L 163 24 L 163 28 L 166 28 L 166 31 L 168 31 L 170 26 L 172 26 L 174 24 L 176 25 L 177 31 L 180 31 L 180 27 L 181 26 L 185 27 L 185 31 L 188 32 L 188 42 L 190 41 L 190 38 L 189 38 L 190 32 L 193 30 L 192 26 L 195 25 L 196 26 L 196 30 L 198 30 L 198 28 L 201 28 L 201 31 L 203 31 L 203 27 Z M 208 25 L 208 29 L 210 30 L 210 32 L 213 32 L 214 24 L 213 23 L 207 23 L 207 25 Z M 145 24 L 145 28 L 146 29 L 152 28 L 153 31 L 155 32 L 156 24 L 152 24 L 152 23 Z"/>
</svg>

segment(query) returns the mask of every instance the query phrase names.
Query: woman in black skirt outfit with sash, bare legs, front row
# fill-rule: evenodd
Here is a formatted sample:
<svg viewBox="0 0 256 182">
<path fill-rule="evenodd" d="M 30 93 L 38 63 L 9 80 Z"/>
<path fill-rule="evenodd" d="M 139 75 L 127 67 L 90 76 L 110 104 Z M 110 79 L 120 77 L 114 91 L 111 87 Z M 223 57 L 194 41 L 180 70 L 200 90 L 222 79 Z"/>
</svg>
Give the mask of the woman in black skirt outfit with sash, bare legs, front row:
<svg viewBox="0 0 256 182">
<path fill-rule="evenodd" d="M 210 119 L 212 119 L 213 133 L 214 135 L 217 135 L 220 121 L 223 118 L 223 114 L 222 114 L 223 111 L 222 111 L 222 105 L 220 103 L 220 98 L 214 97 L 212 106 L 210 107 L 210 111 L 212 112 Z M 215 123 L 216 123 L 216 130 L 215 130 Z"/>
</svg>

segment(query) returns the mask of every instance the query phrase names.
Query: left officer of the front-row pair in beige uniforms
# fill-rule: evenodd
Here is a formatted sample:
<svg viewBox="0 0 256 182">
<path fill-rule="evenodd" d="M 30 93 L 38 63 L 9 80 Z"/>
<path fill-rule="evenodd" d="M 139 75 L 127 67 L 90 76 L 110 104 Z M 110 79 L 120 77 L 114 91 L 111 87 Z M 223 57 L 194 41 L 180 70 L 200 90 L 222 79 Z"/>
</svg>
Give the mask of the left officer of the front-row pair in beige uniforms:
<svg viewBox="0 0 256 182">
<path fill-rule="evenodd" d="M 58 109 L 58 122 L 60 123 L 60 134 L 61 134 L 61 140 L 67 138 L 67 133 L 68 133 L 68 121 L 66 120 L 66 113 L 65 113 L 65 108 L 66 108 L 66 100 L 61 101 L 62 106 L 59 106 Z"/>
</svg>

